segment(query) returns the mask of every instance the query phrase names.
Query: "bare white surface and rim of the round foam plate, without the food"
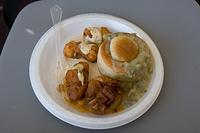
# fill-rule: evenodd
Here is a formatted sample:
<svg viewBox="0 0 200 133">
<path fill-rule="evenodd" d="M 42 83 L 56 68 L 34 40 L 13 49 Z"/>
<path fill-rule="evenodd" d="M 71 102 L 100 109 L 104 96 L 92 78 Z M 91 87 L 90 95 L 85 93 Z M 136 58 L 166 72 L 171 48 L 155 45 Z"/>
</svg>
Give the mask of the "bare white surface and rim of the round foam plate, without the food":
<svg viewBox="0 0 200 133">
<path fill-rule="evenodd" d="M 60 23 L 61 48 L 74 36 L 80 35 L 85 27 L 105 26 L 113 32 L 137 33 L 149 46 L 155 60 L 152 80 L 148 91 L 133 106 L 119 113 L 93 115 L 81 113 L 64 103 L 56 90 L 55 76 L 55 32 L 50 28 L 36 44 L 29 67 L 32 88 L 41 104 L 57 118 L 72 125 L 89 129 L 114 128 L 134 121 L 154 103 L 162 87 L 164 70 L 160 53 L 152 39 L 138 26 L 119 17 L 106 14 L 81 14 Z"/>
</svg>

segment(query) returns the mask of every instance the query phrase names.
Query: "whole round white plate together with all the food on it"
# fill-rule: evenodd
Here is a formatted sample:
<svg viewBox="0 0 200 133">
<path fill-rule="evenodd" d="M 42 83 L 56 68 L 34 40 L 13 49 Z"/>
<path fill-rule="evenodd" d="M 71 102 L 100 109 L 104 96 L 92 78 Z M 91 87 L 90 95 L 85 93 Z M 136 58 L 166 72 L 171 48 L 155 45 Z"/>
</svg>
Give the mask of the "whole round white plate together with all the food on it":
<svg viewBox="0 0 200 133">
<path fill-rule="evenodd" d="M 29 75 L 35 95 L 54 116 L 78 127 L 108 129 L 152 106 L 164 68 L 155 43 L 138 26 L 89 13 L 63 20 L 40 38 Z"/>
</svg>

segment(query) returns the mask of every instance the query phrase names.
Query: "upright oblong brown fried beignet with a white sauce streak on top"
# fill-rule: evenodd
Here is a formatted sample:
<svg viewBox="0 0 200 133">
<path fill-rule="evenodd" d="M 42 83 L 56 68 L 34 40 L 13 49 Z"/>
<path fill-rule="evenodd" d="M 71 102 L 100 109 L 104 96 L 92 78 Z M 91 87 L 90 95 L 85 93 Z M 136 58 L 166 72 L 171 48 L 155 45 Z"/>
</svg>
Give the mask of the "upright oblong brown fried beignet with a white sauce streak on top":
<svg viewBox="0 0 200 133">
<path fill-rule="evenodd" d="M 80 100 L 88 85 L 89 65 L 86 62 L 79 62 L 67 71 L 65 85 L 69 100 Z"/>
</svg>

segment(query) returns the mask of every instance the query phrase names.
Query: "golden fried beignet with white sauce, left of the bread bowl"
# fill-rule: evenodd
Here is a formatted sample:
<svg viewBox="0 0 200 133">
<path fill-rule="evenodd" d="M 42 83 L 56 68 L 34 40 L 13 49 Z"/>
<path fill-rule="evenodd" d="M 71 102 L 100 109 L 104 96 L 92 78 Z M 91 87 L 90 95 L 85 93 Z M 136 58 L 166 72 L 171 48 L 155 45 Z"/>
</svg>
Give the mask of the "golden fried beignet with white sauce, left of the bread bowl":
<svg viewBox="0 0 200 133">
<path fill-rule="evenodd" d="M 98 46 L 71 41 L 65 44 L 63 53 L 67 58 L 79 59 L 83 57 L 90 62 L 95 62 L 97 60 Z"/>
</svg>

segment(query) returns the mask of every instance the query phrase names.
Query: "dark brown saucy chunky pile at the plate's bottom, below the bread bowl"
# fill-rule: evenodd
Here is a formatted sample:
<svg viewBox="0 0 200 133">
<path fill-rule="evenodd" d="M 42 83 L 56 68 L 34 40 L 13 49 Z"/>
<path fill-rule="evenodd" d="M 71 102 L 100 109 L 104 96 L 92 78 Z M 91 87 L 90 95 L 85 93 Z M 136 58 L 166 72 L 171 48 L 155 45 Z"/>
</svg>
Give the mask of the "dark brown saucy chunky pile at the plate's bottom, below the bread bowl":
<svg viewBox="0 0 200 133">
<path fill-rule="evenodd" d="M 89 110 L 95 114 L 106 114 L 108 110 L 115 112 L 121 102 L 121 91 L 116 80 L 91 80 L 85 94 Z"/>
</svg>

